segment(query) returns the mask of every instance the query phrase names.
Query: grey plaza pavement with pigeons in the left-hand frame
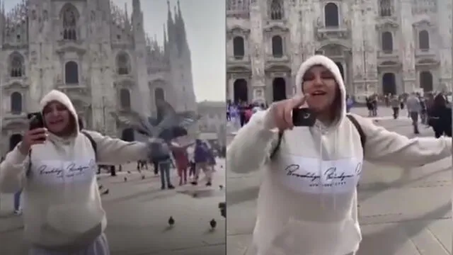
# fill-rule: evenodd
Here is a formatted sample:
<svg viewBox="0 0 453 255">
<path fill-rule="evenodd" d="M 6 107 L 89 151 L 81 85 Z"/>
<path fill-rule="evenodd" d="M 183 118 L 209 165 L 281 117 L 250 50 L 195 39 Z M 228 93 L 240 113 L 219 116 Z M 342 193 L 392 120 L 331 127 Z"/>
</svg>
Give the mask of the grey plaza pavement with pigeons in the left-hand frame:
<svg viewBox="0 0 453 255">
<path fill-rule="evenodd" d="M 112 255 L 224 255 L 225 220 L 218 208 L 224 202 L 224 159 L 218 160 L 212 188 L 200 183 L 197 197 L 195 188 L 183 186 L 173 191 L 161 191 L 159 177 L 151 171 L 142 180 L 135 164 L 123 167 L 117 176 L 102 174 L 99 183 L 109 189 L 102 196 L 107 212 L 105 230 Z M 132 171 L 127 174 L 127 170 Z M 124 177 L 127 177 L 127 182 Z M 173 185 L 177 185 L 173 171 Z M 103 189 L 103 190 L 104 190 Z M 101 191 L 103 191 L 101 190 Z M 13 196 L 0 197 L 0 254 L 25 255 L 28 246 L 23 242 L 21 217 L 12 215 Z M 176 223 L 168 228 L 168 218 Z M 217 228 L 210 230 L 210 220 Z"/>
</svg>

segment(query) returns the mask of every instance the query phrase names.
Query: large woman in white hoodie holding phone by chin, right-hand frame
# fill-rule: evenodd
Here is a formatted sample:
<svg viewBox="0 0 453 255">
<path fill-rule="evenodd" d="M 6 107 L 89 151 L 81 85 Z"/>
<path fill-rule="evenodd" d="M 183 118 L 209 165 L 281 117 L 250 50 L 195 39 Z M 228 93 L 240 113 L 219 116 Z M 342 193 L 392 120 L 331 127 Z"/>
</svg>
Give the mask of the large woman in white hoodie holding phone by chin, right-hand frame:
<svg viewBox="0 0 453 255">
<path fill-rule="evenodd" d="M 340 71 L 322 55 L 301 65 L 296 84 L 297 96 L 253 115 L 226 152 L 227 169 L 263 171 L 248 255 L 355 254 L 362 239 L 356 185 L 363 160 L 420 166 L 449 157 L 452 142 L 408 139 L 352 115 L 356 128 L 346 118 Z M 299 107 L 316 113 L 313 127 L 294 128 L 292 109 Z"/>
</svg>

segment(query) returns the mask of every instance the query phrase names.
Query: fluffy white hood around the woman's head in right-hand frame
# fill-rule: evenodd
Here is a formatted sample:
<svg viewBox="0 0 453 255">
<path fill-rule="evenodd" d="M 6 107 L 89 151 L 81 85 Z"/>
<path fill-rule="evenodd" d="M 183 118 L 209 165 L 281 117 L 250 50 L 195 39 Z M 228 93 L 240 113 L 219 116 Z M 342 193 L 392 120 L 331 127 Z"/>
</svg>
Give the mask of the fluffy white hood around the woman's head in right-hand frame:
<svg viewBox="0 0 453 255">
<path fill-rule="evenodd" d="M 333 77 L 335 77 L 335 80 L 338 85 L 338 90 L 340 91 L 340 98 L 338 98 L 335 102 L 340 104 L 340 110 L 337 112 L 338 116 L 336 119 L 336 123 L 334 124 L 335 126 L 338 125 L 338 123 L 341 123 L 341 121 L 345 118 L 346 116 L 346 89 L 345 89 L 345 83 L 343 81 L 343 77 L 341 77 L 340 69 L 338 69 L 338 66 L 333 62 L 330 58 L 323 56 L 323 55 L 314 55 L 312 57 L 309 57 L 308 60 L 304 61 L 300 67 L 299 71 L 297 72 L 296 75 L 296 88 L 297 88 L 297 93 L 302 93 L 304 94 L 304 91 L 302 90 L 302 79 L 305 75 L 305 72 L 308 71 L 311 67 L 314 67 L 316 65 L 321 65 L 323 67 L 326 67 L 332 74 Z"/>
</svg>

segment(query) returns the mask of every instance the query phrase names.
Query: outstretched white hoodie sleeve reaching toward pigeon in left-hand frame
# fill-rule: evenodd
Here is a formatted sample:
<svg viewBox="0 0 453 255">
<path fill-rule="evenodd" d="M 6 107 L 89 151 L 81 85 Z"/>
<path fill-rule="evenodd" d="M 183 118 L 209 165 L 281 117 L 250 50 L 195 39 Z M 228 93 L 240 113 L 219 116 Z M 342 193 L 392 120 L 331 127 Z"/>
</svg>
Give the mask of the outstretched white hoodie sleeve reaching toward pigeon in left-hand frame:
<svg viewBox="0 0 453 255">
<path fill-rule="evenodd" d="M 149 146 L 144 142 L 125 142 L 123 140 L 88 131 L 97 147 L 97 161 L 105 164 L 125 164 L 148 159 Z"/>
</svg>

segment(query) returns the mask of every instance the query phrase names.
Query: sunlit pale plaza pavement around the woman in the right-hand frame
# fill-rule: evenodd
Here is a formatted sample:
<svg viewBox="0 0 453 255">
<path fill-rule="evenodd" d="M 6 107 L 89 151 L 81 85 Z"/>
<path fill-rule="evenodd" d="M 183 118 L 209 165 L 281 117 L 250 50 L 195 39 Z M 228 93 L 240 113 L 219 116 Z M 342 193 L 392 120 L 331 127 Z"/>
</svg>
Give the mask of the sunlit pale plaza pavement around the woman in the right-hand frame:
<svg viewBox="0 0 453 255">
<path fill-rule="evenodd" d="M 365 108 L 353 113 L 367 115 Z M 379 108 L 377 124 L 413 137 L 403 111 L 398 120 Z M 384 117 L 383 117 L 384 116 Z M 420 125 L 420 136 L 432 136 Z M 363 240 L 357 255 L 447 255 L 452 252 L 452 158 L 417 169 L 365 164 L 358 190 Z M 256 220 L 259 173 L 227 173 L 226 251 L 242 255 Z"/>
</svg>

